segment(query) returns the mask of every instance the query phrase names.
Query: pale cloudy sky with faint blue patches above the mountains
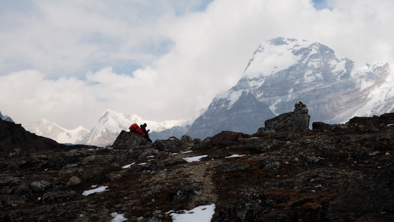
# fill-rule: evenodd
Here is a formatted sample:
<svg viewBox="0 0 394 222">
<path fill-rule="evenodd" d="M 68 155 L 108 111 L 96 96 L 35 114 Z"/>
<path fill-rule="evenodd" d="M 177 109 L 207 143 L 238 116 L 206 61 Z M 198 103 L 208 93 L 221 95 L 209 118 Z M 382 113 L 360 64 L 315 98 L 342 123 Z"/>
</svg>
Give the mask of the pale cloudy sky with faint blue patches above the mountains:
<svg viewBox="0 0 394 222">
<path fill-rule="evenodd" d="M 393 0 L 0 0 L 0 111 L 92 129 L 189 119 L 274 37 L 394 63 Z"/>
</svg>

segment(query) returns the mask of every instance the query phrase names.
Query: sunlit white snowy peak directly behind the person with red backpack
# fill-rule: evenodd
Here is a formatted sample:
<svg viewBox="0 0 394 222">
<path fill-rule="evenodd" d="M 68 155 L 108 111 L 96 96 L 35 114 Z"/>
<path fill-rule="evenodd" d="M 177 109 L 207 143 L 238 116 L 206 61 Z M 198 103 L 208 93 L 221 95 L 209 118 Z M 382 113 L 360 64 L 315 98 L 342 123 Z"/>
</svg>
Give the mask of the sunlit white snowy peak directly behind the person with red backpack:
<svg viewBox="0 0 394 222">
<path fill-rule="evenodd" d="M 90 133 L 81 141 L 82 144 L 91 144 L 95 146 L 105 146 L 112 144 L 116 137 L 122 130 L 129 130 L 131 124 L 136 123 L 141 125 L 147 124 L 147 129 L 151 132 L 161 132 L 165 129 L 172 127 L 185 127 L 192 125 L 197 117 L 194 116 L 189 120 L 169 120 L 163 122 L 155 122 L 144 120 L 137 115 L 126 115 L 123 113 L 117 113 L 112 110 L 105 110 L 103 115 L 100 117 L 99 122 L 90 131 Z M 159 136 L 160 137 L 160 136 Z"/>
</svg>

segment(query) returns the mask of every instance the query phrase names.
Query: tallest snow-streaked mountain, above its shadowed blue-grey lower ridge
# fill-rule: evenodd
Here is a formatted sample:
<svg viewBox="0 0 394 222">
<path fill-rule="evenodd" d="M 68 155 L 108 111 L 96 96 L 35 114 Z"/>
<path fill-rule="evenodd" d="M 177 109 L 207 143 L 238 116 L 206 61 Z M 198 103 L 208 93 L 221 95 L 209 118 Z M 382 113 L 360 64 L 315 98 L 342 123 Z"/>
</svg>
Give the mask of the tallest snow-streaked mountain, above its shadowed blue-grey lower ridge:
<svg viewBox="0 0 394 222">
<path fill-rule="evenodd" d="M 301 100 L 308 105 L 311 123 L 339 123 L 353 116 L 394 111 L 394 65 L 354 63 L 323 44 L 278 37 L 257 48 L 242 78 L 216 95 L 209 109 L 230 110 L 244 92 L 267 104 L 276 115 L 292 111 Z M 195 124 L 202 126 L 207 114 Z"/>
</svg>

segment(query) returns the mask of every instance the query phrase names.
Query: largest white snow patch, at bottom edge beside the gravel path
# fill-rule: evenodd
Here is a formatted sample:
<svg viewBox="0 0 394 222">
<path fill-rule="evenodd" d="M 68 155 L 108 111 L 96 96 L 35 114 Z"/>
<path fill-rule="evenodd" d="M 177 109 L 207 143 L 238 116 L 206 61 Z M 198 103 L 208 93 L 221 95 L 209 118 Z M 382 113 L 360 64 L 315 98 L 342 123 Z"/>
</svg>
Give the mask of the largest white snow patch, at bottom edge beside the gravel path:
<svg viewBox="0 0 394 222">
<path fill-rule="evenodd" d="M 173 222 L 211 222 L 213 214 L 215 214 L 214 203 L 198 206 L 190 211 L 183 210 L 183 214 L 171 213 L 170 216 Z"/>
</svg>

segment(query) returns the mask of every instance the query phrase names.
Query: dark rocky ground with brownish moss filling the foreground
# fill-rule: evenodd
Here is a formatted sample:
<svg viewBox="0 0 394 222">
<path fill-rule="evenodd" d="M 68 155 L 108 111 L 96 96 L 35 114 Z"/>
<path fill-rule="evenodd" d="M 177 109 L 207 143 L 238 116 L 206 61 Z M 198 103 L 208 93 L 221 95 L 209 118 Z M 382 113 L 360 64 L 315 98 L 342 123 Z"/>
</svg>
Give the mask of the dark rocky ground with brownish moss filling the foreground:
<svg viewBox="0 0 394 222">
<path fill-rule="evenodd" d="M 394 113 L 312 130 L 308 116 L 296 107 L 272 128 L 204 140 L 122 131 L 106 148 L 0 140 L 0 221 L 171 222 L 171 210 L 211 204 L 213 222 L 394 221 Z"/>
</svg>

